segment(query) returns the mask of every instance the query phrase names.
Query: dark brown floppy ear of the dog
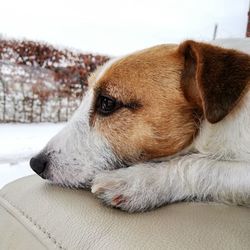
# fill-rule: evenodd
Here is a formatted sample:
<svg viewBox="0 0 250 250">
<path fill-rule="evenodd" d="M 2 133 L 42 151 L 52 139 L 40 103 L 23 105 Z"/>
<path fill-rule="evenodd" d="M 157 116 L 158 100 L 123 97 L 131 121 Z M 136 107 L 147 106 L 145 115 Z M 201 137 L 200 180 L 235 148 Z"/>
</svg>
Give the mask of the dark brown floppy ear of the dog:
<svg viewBox="0 0 250 250">
<path fill-rule="evenodd" d="M 181 86 L 188 101 L 200 107 L 210 123 L 222 120 L 237 104 L 250 81 L 250 56 L 236 50 L 186 41 Z"/>
</svg>

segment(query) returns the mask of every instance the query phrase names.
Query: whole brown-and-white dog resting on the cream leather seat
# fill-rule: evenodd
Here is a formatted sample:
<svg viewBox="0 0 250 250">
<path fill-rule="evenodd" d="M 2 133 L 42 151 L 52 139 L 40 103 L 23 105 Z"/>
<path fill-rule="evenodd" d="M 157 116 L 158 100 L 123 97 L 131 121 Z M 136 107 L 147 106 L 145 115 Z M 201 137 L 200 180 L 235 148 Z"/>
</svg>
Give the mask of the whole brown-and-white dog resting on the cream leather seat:
<svg viewBox="0 0 250 250">
<path fill-rule="evenodd" d="M 31 168 L 128 212 L 190 200 L 248 206 L 249 85 L 248 54 L 192 40 L 112 59 Z"/>
</svg>

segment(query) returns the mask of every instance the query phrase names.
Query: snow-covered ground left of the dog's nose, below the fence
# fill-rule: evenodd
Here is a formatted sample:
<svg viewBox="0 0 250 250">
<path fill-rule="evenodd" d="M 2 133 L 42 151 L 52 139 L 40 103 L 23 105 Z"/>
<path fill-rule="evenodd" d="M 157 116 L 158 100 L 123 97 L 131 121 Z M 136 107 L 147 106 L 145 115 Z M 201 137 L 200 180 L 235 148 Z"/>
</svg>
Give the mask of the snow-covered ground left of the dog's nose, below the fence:
<svg viewBox="0 0 250 250">
<path fill-rule="evenodd" d="M 39 152 L 64 124 L 0 124 L 0 188 L 34 172 L 31 156 Z"/>
</svg>

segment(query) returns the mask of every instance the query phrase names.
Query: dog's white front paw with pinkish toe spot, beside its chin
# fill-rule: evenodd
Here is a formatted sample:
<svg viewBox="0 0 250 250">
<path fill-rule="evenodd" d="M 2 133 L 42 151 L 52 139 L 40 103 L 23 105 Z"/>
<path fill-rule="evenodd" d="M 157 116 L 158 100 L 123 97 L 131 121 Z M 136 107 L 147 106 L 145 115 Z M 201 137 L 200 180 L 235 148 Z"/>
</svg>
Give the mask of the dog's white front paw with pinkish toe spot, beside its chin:
<svg viewBox="0 0 250 250">
<path fill-rule="evenodd" d="M 150 178 L 149 178 L 150 177 Z M 91 188 L 104 204 L 128 212 L 142 212 L 157 206 L 156 179 L 140 168 L 130 167 L 98 174 Z"/>
</svg>

